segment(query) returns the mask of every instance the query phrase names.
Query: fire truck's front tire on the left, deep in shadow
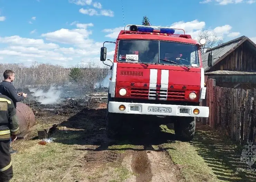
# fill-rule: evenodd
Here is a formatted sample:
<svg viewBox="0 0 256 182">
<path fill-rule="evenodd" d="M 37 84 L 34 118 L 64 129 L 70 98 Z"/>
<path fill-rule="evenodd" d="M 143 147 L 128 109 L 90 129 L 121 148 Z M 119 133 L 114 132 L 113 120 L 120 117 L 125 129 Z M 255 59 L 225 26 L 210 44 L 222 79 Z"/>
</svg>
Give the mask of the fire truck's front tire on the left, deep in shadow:
<svg viewBox="0 0 256 182">
<path fill-rule="evenodd" d="M 109 139 L 119 139 L 122 129 L 122 121 L 118 113 L 108 113 L 106 131 Z"/>
</svg>

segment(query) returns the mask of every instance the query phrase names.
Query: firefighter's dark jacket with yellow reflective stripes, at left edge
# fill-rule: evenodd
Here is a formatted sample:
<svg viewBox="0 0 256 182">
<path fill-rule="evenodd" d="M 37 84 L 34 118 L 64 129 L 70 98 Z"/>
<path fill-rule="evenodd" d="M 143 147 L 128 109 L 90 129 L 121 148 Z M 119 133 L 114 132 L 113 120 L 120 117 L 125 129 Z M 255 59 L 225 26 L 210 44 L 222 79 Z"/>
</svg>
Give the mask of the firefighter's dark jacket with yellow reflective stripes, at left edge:
<svg viewBox="0 0 256 182">
<path fill-rule="evenodd" d="M 12 100 L 0 93 L 0 140 L 19 134 L 19 123 Z"/>
</svg>

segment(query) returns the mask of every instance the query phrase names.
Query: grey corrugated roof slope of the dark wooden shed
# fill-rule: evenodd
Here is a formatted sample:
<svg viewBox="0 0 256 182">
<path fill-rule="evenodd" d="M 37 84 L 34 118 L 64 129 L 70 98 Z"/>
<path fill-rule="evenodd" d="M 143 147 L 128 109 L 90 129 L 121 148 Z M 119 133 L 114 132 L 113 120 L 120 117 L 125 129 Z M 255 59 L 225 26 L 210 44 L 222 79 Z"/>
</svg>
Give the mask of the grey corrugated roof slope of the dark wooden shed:
<svg viewBox="0 0 256 182">
<path fill-rule="evenodd" d="M 245 36 L 239 37 L 237 39 L 228 41 L 226 43 L 223 43 L 221 45 L 218 45 L 214 48 L 212 48 L 212 54 L 213 54 L 213 63 L 214 65 L 223 55 L 225 55 L 228 51 L 236 47 L 241 41 L 246 39 Z M 203 69 L 204 71 L 209 70 L 210 68 L 208 67 L 208 53 L 210 50 L 208 50 L 206 53 L 202 55 L 202 61 L 203 61 Z"/>
</svg>

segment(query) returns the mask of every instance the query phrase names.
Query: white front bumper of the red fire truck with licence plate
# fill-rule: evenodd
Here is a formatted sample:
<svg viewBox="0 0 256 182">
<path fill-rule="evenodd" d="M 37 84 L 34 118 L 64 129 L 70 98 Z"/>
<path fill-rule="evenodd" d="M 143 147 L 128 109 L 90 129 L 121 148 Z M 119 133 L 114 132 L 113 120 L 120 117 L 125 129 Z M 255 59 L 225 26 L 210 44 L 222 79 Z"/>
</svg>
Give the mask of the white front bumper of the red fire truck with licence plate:
<svg viewBox="0 0 256 182">
<path fill-rule="evenodd" d="M 119 107 L 125 108 L 120 110 Z M 125 107 L 124 107 L 125 106 Z M 194 114 L 194 109 L 199 113 Z M 129 103 L 115 102 L 108 103 L 108 112 L 124 114 L 145 114 L 145 115 L 163 115 L 163 116 L 185 116 L 185 117 L 209 117 L 209 107 L 193 105 L 170 105 L 170 104 L 147 104 L 147 103 Z"/>
</svg>

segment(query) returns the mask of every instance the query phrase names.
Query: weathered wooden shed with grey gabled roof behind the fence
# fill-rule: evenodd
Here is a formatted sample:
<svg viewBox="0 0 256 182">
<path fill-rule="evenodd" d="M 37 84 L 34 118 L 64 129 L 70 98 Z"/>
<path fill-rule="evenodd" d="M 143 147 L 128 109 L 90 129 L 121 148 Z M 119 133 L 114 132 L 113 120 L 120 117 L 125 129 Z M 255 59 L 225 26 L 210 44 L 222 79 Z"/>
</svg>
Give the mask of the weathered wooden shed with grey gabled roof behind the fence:
<svg viewBox="0 0 256 182">
<path fill-rule="evenodd" d="M 246 36 L 212 48 L 213 63 L 208 67 L 208 53 L 202 55 L 206 78 L 216 80 L 216 86 L 236 89 L 256 89 L 256 44 Z"/>
</svg>

